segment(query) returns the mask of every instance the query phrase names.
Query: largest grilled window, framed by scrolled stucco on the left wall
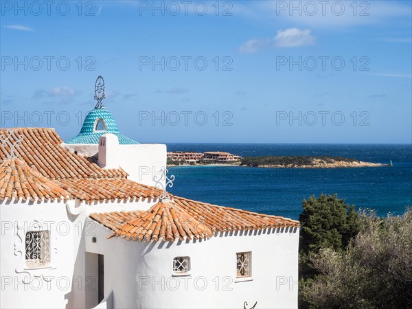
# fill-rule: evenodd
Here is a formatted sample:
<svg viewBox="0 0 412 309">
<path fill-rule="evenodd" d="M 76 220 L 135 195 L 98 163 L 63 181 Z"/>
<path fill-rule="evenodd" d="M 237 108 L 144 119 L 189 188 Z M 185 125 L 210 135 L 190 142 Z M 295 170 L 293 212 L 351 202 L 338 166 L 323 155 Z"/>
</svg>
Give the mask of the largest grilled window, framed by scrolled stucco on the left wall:
<svg viewBox="0 0 412 309">
<path fill-rule="evenodd" d="M 27 267 L 47 266 L 50 263 L 50 232 L 28 231 L 25 235 Z"/>
</svg>

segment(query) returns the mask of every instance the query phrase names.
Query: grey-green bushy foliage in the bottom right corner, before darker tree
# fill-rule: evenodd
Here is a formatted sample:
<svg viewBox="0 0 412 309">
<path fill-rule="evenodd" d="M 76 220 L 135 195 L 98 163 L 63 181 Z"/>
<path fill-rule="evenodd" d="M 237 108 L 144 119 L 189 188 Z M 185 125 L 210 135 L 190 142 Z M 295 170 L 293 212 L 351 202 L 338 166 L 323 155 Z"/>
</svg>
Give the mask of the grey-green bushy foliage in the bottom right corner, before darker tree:
<svg viewBox="0 0 412 309">
<path fill-rule="evenodd" d="M 310 253 L 318 275 L 301 282 L 311 308 L 412 308 L 412 208 L 403 216 L 363 212 L 347 251 Z"/>
</svg>

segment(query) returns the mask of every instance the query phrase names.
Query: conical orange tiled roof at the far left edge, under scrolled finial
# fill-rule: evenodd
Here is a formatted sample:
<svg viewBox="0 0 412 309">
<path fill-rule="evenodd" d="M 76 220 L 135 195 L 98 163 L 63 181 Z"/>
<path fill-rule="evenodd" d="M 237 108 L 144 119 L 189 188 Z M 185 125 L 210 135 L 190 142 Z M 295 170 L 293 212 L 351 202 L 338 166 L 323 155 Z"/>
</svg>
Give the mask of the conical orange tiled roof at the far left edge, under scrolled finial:
<svg viewBox="0 0 412 309">
<path fill-rule="evenodd" d="M 30 168 L 20 159 L 6 159 L 0 168 L 0 201 L 22 199 L 60 199 L 69 196 L 54 181 L 46 179 L 40 172 Z"/>
</svg>

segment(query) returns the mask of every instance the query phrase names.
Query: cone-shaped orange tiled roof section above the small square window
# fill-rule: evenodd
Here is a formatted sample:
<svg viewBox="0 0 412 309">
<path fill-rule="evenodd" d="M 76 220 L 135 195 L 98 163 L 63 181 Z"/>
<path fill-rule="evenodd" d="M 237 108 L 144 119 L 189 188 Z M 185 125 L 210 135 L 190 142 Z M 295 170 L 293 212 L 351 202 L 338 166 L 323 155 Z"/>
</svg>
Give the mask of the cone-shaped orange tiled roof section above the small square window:
<svg viewBox="0 0 412 309">
<path fill-rule="evenodd" d="M 160 201 L 141 212 L 137 218 L 129 220 L 119 227 L 112 236 L 120 236 L 126 240 L 160 240 L 174 241 L 179 238 L 206 238 L 213 234 L 207 225 L 199 222 L 172 201 Z"/>
</svg>

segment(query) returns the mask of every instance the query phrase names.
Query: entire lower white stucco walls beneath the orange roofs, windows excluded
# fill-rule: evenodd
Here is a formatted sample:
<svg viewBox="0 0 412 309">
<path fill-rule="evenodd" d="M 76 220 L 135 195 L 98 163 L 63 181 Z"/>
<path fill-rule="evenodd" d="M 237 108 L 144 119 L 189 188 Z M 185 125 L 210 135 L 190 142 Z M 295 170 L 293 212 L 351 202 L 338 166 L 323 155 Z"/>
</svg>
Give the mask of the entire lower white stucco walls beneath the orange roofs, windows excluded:
<svg viewBox="0 0 412 309">
<path fill-rule="evenodd" d="M 108 308 L 297 308 L 298 229 L 218 233 L 208 240 L 133 242 L 106 239 L 111 231 L 93 212 L 146 210 L 156 199 L 0 203 L 1 308 L 93 308 L 97 255 L 104 255 Z M 51 232 L 51 264 L 25 268 L 25 232 Z M 95 237 L 95 242 L 92 242 Z M 236 253 L 252 252 L 251 281 L 236 282 Z M 189 276 L 172 262 L 190 256 Z M 25 282 L 25 283 L 24 283 Z"/>
</svg>

